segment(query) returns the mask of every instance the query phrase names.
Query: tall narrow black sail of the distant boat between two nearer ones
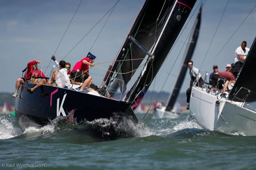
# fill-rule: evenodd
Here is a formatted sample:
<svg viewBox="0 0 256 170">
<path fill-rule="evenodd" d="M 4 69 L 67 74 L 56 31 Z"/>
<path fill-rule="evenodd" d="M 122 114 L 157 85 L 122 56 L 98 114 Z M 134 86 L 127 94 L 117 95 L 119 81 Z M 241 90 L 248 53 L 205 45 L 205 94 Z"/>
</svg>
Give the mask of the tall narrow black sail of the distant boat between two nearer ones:
<svg viewBox="0 0 256 170">
<path fill-rule="evenodd" d="M 175 79 L 174 86 L 172 88 L 172 92 L 170 93 L 170 96 L 166 102 L 166 106 L 165 106 L 166 111 L 171 111 L 176 100 L 177 100 L 181 85 L 183 84 L 184 78 L 186 76 L 186 72 L 187 72 L 187 68 L 188 68 L 187 62 L 188 62 L 188 60 L 191 60 L 192 55 L 194 53 L 194 49 L 196 47 L 196 42 L 197 42 L 198 35 L 199 35 L 200 24 L 201 24 L 201 10 L 202 10 L 202 7 L 198 11 L 196 21 L 194 23 L 192 32 L 189 37 L 187 48 L 185 50 L 183 59 L 181 61 L 180 70 L 177 73 L 177 77 Z"/>
</svg>

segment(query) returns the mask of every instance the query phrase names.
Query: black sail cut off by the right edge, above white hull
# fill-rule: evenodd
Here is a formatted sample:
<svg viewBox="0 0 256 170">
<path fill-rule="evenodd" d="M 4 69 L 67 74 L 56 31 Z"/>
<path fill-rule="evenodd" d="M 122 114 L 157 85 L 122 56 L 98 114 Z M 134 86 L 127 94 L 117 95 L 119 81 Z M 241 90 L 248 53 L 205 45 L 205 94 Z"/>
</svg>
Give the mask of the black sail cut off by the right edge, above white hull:
<svg viewBox="0 0 256 170">
<path fill-rule="evenodd" d="M 247 55 L 244 64 L 239 72 L 238 78 L 236 79 L 236 83 L 229 93 L 230 100 L 232 100 L 235 97 L 233 101 L 241 101 L 245 100 L 246 98 L 247 102 L 256 101 L 256 74 L 252 69 L 254 68 L 254 64 L 256 63 L 255 41 L 256 37 L 252 43 L 252 47 L 249 51 L 249 54 Z M 239 91 L 240 88 L 241 90 Z M 247 89 L 250 91 L 248 92 Z"/>
</svg>

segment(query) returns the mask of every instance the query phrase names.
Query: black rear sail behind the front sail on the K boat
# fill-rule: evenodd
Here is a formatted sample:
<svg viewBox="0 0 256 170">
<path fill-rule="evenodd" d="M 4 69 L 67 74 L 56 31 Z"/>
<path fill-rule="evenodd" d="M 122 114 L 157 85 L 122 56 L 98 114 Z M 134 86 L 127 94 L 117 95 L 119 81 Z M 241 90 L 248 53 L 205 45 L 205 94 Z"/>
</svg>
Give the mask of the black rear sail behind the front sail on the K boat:
<svg viewBox="0 0 256 170">
<path fill-rule="evenodd" d="M 111 77 L 115 77 L 113 76 L 114 72 L 127 73 L 117 74 L 117 77 L 124 81 L 124 86 L 127 85 L 135 70 L 143 61 L 142 59 L 146 57 L 146 54 L 136 44 L 132 43 L 129 36 L 133 36 L 146 49 L 151 49 L 159 36 L 173 3 L 174 0 L 146 0 L 116 56 L 116 62 L 110 66 L 105 76 L 105 86 L 108 86 Z"/>
</svg>

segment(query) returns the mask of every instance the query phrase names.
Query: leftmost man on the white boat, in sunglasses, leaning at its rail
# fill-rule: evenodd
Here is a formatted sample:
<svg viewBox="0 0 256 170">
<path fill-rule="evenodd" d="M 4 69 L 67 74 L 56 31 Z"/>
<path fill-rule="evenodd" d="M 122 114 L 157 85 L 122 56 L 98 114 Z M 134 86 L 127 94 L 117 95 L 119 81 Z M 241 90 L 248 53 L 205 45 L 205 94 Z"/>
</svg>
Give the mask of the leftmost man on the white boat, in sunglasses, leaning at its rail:
<svg viewBox="0 0 256 170">
<path fill-rule="evenodd" d="M 187 103 L 188 103 L 187 109 L 189 109 L 190 94 L 191 94 L 193 82 L 196 82 L 196 86 L 202 87 L 204 85 L 204 80 L 201 77 L 200 71 L 196 67 L 193 67 L 193 61 L 189 60 L 187 64 L 189 68 L 189 75 L 191 77 L 189 88 L 187 89 L 187 92 L 186 92 Z"/>
</svg>

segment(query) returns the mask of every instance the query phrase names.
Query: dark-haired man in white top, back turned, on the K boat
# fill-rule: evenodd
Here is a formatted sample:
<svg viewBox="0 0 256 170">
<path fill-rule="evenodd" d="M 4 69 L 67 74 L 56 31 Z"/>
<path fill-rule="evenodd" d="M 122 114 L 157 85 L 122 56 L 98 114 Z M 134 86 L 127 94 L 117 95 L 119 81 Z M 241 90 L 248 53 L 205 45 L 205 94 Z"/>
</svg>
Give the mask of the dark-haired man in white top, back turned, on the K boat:
<svg viewBox="0 0 256 170">
<path fill-rule="evenodd" d="M 58 87 L 64 88 L 67 83 L 68 88 L 70 88 L 71 86 L 70 86 L 70 80 L 68 77 L 68 70 L 65 68 L 65 64 L 66 62 L 63 60 L 61 60 L 59 63 L 60 71 L 56 78 L 56 84 L 58 85 Z"/>
</svg>

